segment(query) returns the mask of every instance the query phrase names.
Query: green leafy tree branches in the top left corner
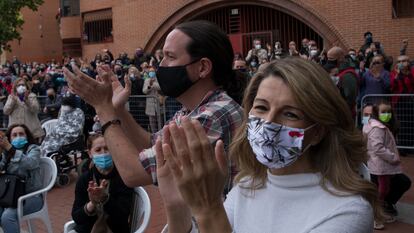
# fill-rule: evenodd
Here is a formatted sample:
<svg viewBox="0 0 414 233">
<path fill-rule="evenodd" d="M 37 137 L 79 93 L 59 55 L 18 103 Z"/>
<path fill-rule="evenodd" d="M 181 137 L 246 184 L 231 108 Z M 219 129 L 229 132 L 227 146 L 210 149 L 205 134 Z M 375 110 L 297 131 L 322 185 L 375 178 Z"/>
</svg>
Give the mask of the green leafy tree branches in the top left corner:
<svg viewBox="0 0 414 233">
<path fill-rule="evenodd" d="M 10 41 L 22 37 L 20 31 L 24 24 L 20 10 L 28 7 L 37 11 L 43 0 L 0 0 L 0 54 L 11 51 Z"/>
</svg>

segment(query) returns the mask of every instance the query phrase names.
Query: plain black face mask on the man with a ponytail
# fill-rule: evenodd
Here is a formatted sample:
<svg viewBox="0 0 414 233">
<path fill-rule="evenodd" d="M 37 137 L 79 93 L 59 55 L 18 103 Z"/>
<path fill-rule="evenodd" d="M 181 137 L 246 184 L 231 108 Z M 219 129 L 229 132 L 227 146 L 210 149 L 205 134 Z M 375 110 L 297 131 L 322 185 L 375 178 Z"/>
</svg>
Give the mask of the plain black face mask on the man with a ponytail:
<svg viewBox="0 0 414 233">
<path fill-rule="evenodd" d="M 157 70 L 157 80 L 162 93 L 176 98 L 194 85 L 195 82 L 188 78 L 186 67 L 199 60 L 194 60 L 183 66 L 160 66 Z"/>
</svg>

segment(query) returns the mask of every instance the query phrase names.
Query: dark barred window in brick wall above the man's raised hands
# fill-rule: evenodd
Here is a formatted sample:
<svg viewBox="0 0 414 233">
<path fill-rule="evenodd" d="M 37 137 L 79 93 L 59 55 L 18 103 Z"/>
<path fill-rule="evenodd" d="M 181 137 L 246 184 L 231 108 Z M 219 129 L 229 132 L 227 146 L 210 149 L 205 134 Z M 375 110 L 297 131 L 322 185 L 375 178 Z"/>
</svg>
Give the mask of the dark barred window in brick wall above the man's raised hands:
<svg viewBox="0 0 414 233">
<path fill-rule="evenodd" d="M 112 42 L 112 10 L 84 13 L 83 41 L 86 43 Z"/>
</svg>

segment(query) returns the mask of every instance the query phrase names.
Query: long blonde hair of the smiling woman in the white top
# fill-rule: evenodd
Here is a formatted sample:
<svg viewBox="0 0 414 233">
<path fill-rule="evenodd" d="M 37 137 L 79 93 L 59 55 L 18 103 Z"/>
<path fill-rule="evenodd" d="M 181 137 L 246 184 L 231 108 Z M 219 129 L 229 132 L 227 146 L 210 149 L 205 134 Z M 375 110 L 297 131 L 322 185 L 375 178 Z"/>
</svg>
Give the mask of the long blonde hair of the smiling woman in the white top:
<svg viewBox="0 0 414 233">
<path fill-rule="evenodd" d="M 256 160 L 249 145 L 247 119 L 260 84 L 271 77 L 284 80 L 307 118 L 326 129 L 321 142 L 309 148 L 308 153 L 311 166 L 323 177 L 322 188 L 333 195 L 361 195 L 372 205 L 375 216 L 380 217 L 376 187 L 358 174 L 368 158 L 366 141 L 354 126 L 348 105 L 329 75 L 318 64 L 301 58 L 276 60 L 261 67 L 247 87 L 244 121 L 230 145 L 230 155 L 240 169 L 235 182 L 249 184 L 245 188 L 252 191 L 265 185 L 267 167 Z M 328 189 L 328 183 L 339 192 Z"/>
</svg>

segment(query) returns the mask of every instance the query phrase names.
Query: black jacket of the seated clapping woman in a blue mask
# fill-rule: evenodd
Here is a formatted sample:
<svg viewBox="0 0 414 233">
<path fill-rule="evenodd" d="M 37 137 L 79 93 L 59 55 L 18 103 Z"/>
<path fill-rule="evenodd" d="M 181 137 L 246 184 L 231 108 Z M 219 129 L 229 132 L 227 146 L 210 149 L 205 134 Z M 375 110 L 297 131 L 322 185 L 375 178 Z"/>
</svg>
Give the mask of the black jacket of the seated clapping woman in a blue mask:
<svg viewBox="0 0 414 233">
<path fill-rule="evenodd" d="M 124 184 L 115 168 L 104 176 L 95 167 L 82 174 L 76 183 L 75 201 L 72 208 L 72 218 L 76 223 L 75 230 L 78 233 L 89 233 L 97 220 L 96 215 L 88 216 L 84 210 L 84 206 L 89 202 L 87 189 L 89 181 L 93 180 L 93 175 L 98 184 L 102 179 L 110 181 L 109 200 L 104 205 L 105 213 L 109 215 L 108 226 L 113 233 L 130 232 L 128 220 L 133 204 L 133 189 Z"/>
</svg>

